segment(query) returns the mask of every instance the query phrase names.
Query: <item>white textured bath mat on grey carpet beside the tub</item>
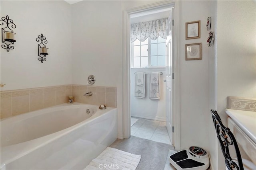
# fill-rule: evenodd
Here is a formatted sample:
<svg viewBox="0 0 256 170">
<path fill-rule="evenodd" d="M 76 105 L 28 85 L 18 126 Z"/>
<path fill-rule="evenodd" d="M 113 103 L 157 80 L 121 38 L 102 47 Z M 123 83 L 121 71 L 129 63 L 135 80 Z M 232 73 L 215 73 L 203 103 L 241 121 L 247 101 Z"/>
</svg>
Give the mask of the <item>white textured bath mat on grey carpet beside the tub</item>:
<svg viewBox="0 0 256 170">
<path fill-rule="evenodd" d="M 140 155 L 107 147 L 86 166 L 85 170 L 135 170 L 140 162 L 140 158 Z"/>
</svg>

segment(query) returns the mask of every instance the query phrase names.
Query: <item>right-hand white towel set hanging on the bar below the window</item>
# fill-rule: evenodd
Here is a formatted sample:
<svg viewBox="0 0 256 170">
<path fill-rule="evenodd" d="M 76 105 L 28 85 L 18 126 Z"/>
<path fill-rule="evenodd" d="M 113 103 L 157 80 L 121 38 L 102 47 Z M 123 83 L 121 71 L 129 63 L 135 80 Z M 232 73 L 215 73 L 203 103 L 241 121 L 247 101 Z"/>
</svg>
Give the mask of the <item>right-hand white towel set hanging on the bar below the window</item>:
<svg viewBox="0 0 256 170">
<path fill-rule="evenodd" d="M 152 72 L 150 76 L 150 85 L 149 85 L 149 98 L 160 100 L 161 97 L 161 81 L 160 72 Z"/>
</svg>

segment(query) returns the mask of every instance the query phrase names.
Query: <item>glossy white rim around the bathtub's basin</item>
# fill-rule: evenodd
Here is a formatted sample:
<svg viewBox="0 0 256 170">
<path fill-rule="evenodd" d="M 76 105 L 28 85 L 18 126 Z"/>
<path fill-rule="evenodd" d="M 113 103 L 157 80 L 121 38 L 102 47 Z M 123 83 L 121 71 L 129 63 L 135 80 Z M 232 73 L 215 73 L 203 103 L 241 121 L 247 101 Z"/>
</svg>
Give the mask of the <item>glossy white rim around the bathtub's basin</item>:
<svg viewBox="0 0 256 170">
<path fill-rule="evenodd" d="M 91 105 L 91 104 L 82 104 L 82 103 L 74 102 L 72 106 L 75 106 L 75 105 L 96 106 L 96 105 Z M 58 108 L 58 107 L 63 107 L 63 106 L 69 106 L 69 103 L 60 104 L 60 105 L 56 105 L 56 106 L 52 106 L 52 107 L 47 107 L 47 108 L 45 108 L 45 110 L 52 109 L 54 107 Z M 41 110 L 44 110 L 44 109 L 41 109 Z M 97 107 L 97 110 L 94 113 L 94 115 L 92 115 L 91 117 L 89 117 L 88 119 L 86 119 L 84 121 L 81 121 L 80 123 L 77 123 L 73 126 L 66 128 L 66 129 L 62 129 L 55 133 L 51 133 L 49 135 L 42 136 L 42 137 L 30 140 L 30 141 L 25 141 L 22 143 L 18 143 L 18 144 L 6 146 L 6 147 L 1 147 L 0 148 L 1 149 L 0 167 L 2 168 L 5 165 L 9 164 L 10 162 L 13 162 L 16 159 L 21 158 L 22 156 L 40 148 L 40 147 L 43 147 L 56 139 L 63 137 L 64 135 L 70 133 L 71 131 L 74 131 L 74 129 L 78 129 L 78 128 L 82 127 L 85 123 L 94 121 L 95 119 L 97 119 L 97 117 L 99 117 L 101 115 L 105 115 L 110 111 L 114 111 L 114 113 L 116 113 L 116 116 L 117 116 L 117 108 L 115 108 L 115 107 L 107 107 L 107 109 L 104 109 L 104 110 L 101 110 Z M 28 112 L 28 113 L 31 114 L 34 112 L 35 111 Z M 26 115 L 28 113 L 24 113 L 21 115 Z M 41 115 L 41 114 L 38 114 L 38 115 Z M 16 117 L 18 117 L 18 116 L 20 116 L 20 115 L 17 115 L 14 117 L 8 117 L 5 120 L 11 119 L 11 118 L 17 119 Z M 33 117 L 33 116 L 30 115 L 29 117 Z"/>
</svg>

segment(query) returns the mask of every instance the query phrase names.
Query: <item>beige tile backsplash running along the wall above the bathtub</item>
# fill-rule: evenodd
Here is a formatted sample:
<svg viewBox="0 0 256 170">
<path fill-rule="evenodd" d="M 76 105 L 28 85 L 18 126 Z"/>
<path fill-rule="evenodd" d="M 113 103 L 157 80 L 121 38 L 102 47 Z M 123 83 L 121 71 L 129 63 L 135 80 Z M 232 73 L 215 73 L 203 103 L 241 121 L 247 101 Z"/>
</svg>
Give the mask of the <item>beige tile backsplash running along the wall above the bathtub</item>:
<svg viewBox="0 0 256 170">
<path fill-rule="evenodd" d="M 63 104 L 68 102 L 68 96 L 74 96 L 74 102 L 116 107 L 116 91 L 116 87 L 87 85 L 63 85 L 1 91 L 0 118 L 3 119 Z M 84 96 L 87 92 L 93 92 L 93 95 Z"/>
</svg>

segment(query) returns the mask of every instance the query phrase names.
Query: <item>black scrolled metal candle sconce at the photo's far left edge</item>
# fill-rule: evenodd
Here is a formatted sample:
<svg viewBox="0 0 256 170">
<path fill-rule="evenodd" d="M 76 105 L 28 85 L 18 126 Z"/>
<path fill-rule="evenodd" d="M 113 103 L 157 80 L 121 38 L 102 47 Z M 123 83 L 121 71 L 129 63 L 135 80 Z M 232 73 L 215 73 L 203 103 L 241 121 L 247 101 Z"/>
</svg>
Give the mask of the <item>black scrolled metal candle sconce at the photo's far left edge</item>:
<svg viewBox="0 0 256 170">
<path fill-rule="evenodd" d="M 16 33 L 14 33 L 12 30 L 16 28 L 16 25 L 11 19 L 9 19 L 9 16 L 2 17 L 0 21 L 0 25 L 6 25 L 6 27 L 2 27 L 2 48 L 9 52 L 10 49 L 14 49 L 13 44 L 16 42 L 14 37 Z"/>
</svg>

